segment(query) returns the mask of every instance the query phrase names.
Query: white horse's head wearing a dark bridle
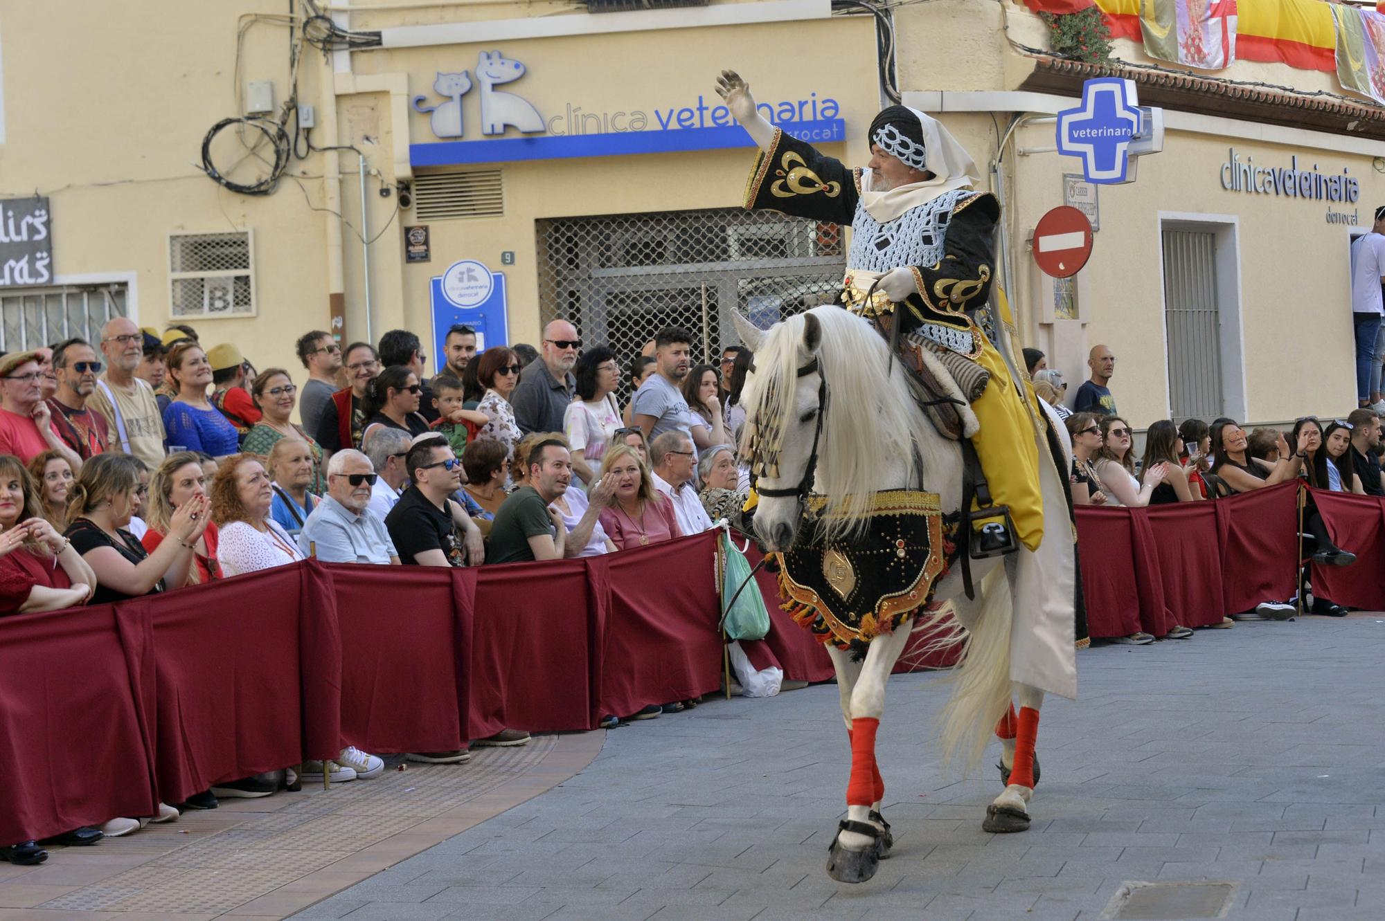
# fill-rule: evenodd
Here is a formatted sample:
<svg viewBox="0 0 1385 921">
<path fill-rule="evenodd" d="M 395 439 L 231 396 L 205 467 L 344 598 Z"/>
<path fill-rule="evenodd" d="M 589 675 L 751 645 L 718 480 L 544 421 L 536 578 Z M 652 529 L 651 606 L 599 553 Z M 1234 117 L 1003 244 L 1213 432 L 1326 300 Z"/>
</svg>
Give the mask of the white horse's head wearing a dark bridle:
<svg viewBox="0 0 1385 921">
<path fill-rule="evenodd" d="M 813 487 L 827 390 L 819 351 L 823 325 L 813 314 L 756 329 L 733 317 L 755 354 L 745 375 L 741 455 L 756 477 L 755 531 L 769 550 L 787 550 L 798 535 L 802 502 Z"/>
</svg>

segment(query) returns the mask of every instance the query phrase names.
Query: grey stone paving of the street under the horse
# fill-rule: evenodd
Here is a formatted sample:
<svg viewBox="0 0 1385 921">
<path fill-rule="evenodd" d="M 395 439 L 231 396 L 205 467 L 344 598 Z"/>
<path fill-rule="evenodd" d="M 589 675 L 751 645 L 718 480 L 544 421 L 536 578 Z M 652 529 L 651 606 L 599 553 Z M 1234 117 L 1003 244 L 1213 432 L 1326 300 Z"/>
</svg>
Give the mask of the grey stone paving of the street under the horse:
<svg viewBox="0 0 1385 921">
<path fill-rule="evenodd" d="M 295 917 L 1073 921 L 1127 881 L 1213 880 L 1231 918 L 1378 921 L 1382 661 L 1373 614 L 1084 650 L 1080 700 L 1043 709 L 1017 835 L 981 830 L 994 758 L 965 779 L 938 762 L 938 676 L 895 676 L 895 853 L 857 886 L 824 873 L 849 768 L 837 689 L 717 700 L 608 733 L 566 783 Z"/>
</svg>

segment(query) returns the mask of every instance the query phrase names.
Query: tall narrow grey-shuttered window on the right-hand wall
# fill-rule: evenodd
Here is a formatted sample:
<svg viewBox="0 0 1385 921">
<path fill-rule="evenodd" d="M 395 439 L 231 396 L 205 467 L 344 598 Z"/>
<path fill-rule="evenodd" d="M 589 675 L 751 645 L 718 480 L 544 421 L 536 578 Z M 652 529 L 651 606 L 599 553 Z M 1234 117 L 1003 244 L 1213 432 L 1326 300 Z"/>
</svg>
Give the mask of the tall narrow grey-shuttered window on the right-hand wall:
<svg viewBox="0 0 1385 921">
<path fill-rule="evenodd" d="M 1216 234 L 1163 231 L 1163 319 L 1174 422 L 1223 413 Z"/>
</svg>

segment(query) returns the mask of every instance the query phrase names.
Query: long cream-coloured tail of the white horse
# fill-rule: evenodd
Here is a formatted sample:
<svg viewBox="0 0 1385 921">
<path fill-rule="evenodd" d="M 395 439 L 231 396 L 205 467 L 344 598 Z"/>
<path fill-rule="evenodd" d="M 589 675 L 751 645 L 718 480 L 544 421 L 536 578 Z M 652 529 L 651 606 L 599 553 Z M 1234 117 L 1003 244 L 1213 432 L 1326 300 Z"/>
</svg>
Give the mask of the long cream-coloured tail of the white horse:
<svg viewBox="0 0 1385 921">
<path fill-rule="evenodd" d="M 915 629 L 938 636 L 929 646 L 961 646 L 961 665 L 946 678 L 953 689 L 938 718 L 942 723 L 943 762 L 961 756 L 964 769 L 971 770 L 981 763 L 993 727 L 1010 709 L 1010 625 L 1014 610 L 1006 567 L 993 567 L 982 579 L 981 610 L 974 629 L 965 631 L 957 621 L 947 624 L 949 607 L 932 614 Z"/>
</svg>

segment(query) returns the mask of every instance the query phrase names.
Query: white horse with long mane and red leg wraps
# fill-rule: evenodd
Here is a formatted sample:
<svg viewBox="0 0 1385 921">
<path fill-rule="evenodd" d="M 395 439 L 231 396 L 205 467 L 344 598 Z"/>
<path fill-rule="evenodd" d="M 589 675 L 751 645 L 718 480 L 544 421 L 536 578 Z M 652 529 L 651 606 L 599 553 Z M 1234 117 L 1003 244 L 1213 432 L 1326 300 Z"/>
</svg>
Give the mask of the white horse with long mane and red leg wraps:
<svg viewBox="0 0 1385 921">
<path fill-rule="evenodd" d="M 778 448 L 776 463 L 758 480 L 762 492 L 753 519 L 769 550 L 787 550 L 798 537 L 805 496 L 795 484 L 810 485 L 814 495 L 825 496 L 825 512 L 834 513 L 832 519 L 823 517 L 824 527 L 834 530 L 827 534 L 828 542 L 846 546 L 864 524 L 877 491 L 922 490 L 939 495 L 945 514 L 960 508 L 961 448 L 932 429 L 910 396 L 906 371 L 897 360 L 891 361 L 889 347 L 867 321 L 837 306 L 816 307 L 767 332 L 740 317 L 735 321 L 755 355 L 741 397 L 747 409 L 741 448 L 752 469 L 763 461 L 749 456 L 755 454 L 753 433 L 762 426 L 781 427 L 771 436 Z M 824 394 L 825 412 L 820 405 Z M 1050 412 L 1047 407 L 1044 411 Z M 1068 452 L 1065 429 L 1051 412 L 1048 418 L 1064 433 L 1060 443 Z M 964 651 L 942 715 L 943 751 L 947 756 L 963 754 L 974 766 L 992 727 L 1001 737 L 1006 790 L 988 808 L 982 826 L 997 832 L 1029 827 L 1026 805 L 1039 776 L 1033 743 L 1044 691 L 1076 696 L 1069 512 L 1064 481 L 1057 466 L 1047 462 L 1051 454 L 1046 436 L 1035 437 L 1044 498 L 1039 549 L 1021 548 L 1001 559 L 972 561 L 981 589 L 975 600 L 963 592 L 958 566 L 939 581 L 935 593 L 935 602 L 953 602 L 965 628 L 947 640 L 964 643 Z M 838 826 L 827 863 L 834 880 L 870 880 L 893 845 L 881 813 L 884 783 L 874 737 L 885 708 L 885 680 L 910 628 L 932 629 L 946 618 L 936 606 L 929 610 L 931 617 L 915 618 L 925 624 L 906 621 L 875 636 L 864 661 L 853 661 L 849 651 L 832 644 L 827 647 L 852 741 L 846 820 Z M 1018 718 L 1015 700 L 1021 707 Z"/>
</svg>

